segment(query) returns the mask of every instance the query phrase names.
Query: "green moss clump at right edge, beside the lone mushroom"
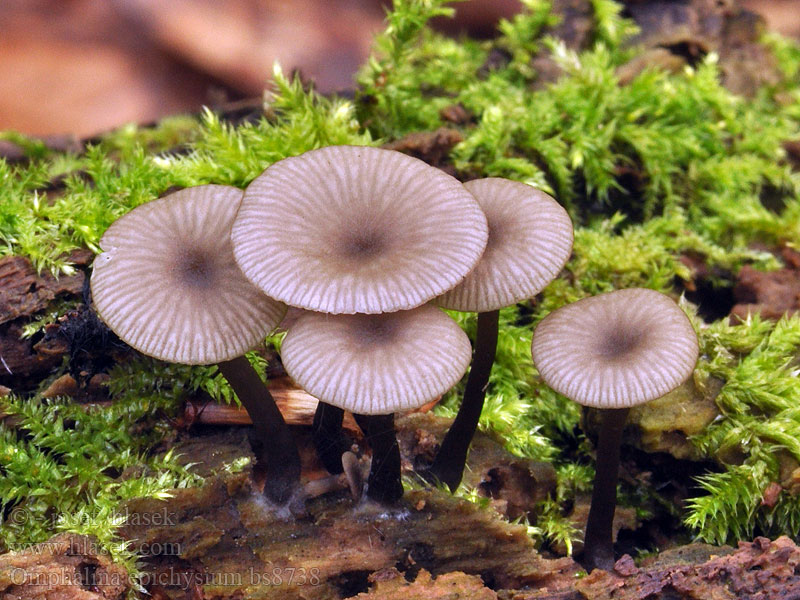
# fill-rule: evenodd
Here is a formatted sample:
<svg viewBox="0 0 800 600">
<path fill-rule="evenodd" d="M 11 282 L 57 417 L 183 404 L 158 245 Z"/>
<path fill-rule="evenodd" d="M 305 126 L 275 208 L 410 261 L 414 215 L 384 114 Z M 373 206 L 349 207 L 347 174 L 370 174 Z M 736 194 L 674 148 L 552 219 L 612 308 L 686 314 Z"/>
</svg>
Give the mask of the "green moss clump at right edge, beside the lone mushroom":
<svg viewBox="0 0 800 600">
<path fill-rule="evenodd" d="M 700 480 L 705 494 L 690 502 L 685 521 L 714 543 L 756 533 L 797 535 L 798 490 L 782 491 L 774 506 L 762 500 L 768 484 L 790 479 L 782 473 L 787 465 L 800 466 L 800 317 L 719 321 L 701 342 L 704 358 L 695 377 L 725 382 L 717 396 L 723 417 L 693 441 L 725 470 Z"/>
</svg>

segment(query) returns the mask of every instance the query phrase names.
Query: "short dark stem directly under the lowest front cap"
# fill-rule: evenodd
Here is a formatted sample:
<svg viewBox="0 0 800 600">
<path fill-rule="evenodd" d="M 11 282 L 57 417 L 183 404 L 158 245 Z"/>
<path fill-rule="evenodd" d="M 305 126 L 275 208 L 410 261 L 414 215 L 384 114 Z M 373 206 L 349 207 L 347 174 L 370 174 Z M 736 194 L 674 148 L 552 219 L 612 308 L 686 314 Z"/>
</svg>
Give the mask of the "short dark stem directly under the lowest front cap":
<svg viewBox="0 0 800 600">
<path fill-rule="evenodd" d="M 353 414 L 372 448 L 367 496 L 390 504 L 403 497 L 400 481 L 400 446 L 394 433 L 394 415 Z"/>
</svg>

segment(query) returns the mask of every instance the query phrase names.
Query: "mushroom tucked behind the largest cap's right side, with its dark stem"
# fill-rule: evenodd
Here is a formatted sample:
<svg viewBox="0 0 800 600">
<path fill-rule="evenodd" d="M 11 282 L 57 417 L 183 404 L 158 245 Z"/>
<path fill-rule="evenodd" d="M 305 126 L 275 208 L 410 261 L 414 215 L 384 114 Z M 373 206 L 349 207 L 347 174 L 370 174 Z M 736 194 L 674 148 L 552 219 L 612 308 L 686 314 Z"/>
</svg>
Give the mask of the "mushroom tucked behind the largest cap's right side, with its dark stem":
<svg viewBox="0 0 800 600">
<path fill-rule="evenodd" d="M 464 398 L 427 474 L 451 490 L 461 483 L 478 427 L 494 363 L 500 309 L 538 294 L 566 264 L 572 251 L 572 221 L 544 192 L 524 183 L 490 177 L 464 184 L 489 223 L 489 240 L 477 266 L 436 302 L 478 313 L 472 368 Z"/>
</svg>

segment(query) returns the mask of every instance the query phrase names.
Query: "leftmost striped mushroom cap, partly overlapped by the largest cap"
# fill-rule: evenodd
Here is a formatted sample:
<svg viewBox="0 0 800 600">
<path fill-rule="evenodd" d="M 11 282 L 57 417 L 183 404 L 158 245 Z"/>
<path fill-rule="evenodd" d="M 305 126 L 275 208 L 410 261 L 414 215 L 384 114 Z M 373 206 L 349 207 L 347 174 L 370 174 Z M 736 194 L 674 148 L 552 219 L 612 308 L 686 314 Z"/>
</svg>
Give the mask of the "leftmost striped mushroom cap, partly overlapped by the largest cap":
<svg viewBox="0 0 800 600">
<path fill-rule="evenodd" d="M 92 298 L 100 318 L 140 352 L 210 364 L 250 350 L 286 307 L 239 270 L 230 231 L 242 190 L 187 188 L 117 219 L 100 240 Z"/>
</svg>

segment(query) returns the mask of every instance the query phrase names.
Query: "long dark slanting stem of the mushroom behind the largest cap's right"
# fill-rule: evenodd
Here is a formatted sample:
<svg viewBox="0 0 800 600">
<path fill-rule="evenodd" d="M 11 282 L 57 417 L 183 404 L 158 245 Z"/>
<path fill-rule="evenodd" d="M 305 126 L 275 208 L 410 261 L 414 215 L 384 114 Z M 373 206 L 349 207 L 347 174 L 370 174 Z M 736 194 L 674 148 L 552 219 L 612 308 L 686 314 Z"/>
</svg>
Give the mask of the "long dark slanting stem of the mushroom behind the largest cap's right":
<svg viewBox="0 0 800 600">
<path fill-rule="evenodd" d="M 461 483 L 467 451 L 478 428 L 483 410 L 486 386 L 497 351 L 497 331 L 500 311 L 478 313 L 478 333 L 472 353 L 472 368 L 467 378 L 464 398 L 453 424 L 436 453 L 428 473 L 455 491 Z"/>
</svg>

